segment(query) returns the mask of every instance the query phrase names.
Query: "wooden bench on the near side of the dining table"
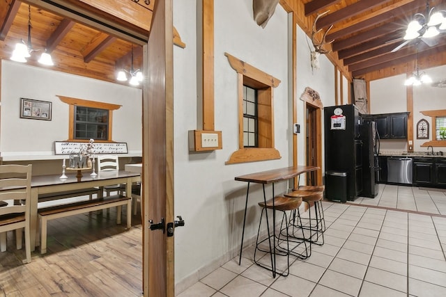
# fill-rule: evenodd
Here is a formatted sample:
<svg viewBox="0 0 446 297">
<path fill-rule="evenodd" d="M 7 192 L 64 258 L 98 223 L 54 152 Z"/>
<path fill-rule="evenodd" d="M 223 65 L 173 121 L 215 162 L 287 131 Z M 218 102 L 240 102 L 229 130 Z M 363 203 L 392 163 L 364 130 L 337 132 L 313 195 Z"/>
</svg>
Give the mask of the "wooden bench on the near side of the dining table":
<svg viewBox="0 0 446 297">
<path fill-rule="evenodd" d="M 117 207 L 116 223 L 121 224 L 121 208 L 127 206 L 127 229 L 132 226 L 132 198 L 123 195 L 111 195 L 105 198 L 93 200 L 85 200 L 69 204 L 61 204 L 54 207 L 45 207 L 38 210 L 40 221 L 40 253 L 47 252 L 47 222 L 54 218 L 63 218 L 66 216 L 74 216 L 76 214 L 84 214 L 89 211 L 107 209 L 109 207 Z"/>
</svg>

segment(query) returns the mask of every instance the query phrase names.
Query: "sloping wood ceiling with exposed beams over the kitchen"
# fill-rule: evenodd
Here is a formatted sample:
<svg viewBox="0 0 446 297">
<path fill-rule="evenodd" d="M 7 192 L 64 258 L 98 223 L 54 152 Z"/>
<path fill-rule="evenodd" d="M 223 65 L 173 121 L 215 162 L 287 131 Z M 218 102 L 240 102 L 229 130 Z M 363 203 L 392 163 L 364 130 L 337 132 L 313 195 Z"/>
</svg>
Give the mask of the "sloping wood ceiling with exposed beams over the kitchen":
<svg viewBox="0 0 446 297">
<path fill-rule="evenodd" d="M 339 65 L 346 67 L 351 77 L 368 77 L 371 80 L 411 72 L 415 69 L 417 56 L 420 68 L 446 64 L 446 31 L 429 40 L 403 40 L 415 13 L 427 15 L 428 7 L 429 10 L 435 7 L 434 11 L 446 10 L 444 0 L 302 2 L 305 3 L 305 17 L 315 19 L 317 15 L 328 12 L 318 19 L 316 30 L 321 29 L 321 37 L 332 26 L 325 41 L 334 41 L 325 47 L 333 51 L 334 58 L 339 60 Z"/>
</svg>

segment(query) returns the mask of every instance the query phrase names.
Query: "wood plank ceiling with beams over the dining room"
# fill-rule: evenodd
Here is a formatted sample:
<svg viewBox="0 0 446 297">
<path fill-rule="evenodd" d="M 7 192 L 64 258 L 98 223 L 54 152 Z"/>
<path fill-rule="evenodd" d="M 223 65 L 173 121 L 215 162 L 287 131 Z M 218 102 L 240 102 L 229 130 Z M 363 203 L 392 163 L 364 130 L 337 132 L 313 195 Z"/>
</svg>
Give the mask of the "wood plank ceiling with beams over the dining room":
<svg viewBox="0 0 446 297">
<path fill-rule="evenodd" d="M 144 38 L 112 35 L 92 29 L 75 19 L 61 17 L 25 1 L 6 0 L 0 3 L 0 58 L 9 60 L 15 44 L 28 36 L 28 22 L 31 16 L 31 45 L 38 49 L 28 58 L 27 64 L 48 67 L 103 81 L 116 81 L 116 73 L 122 68 L 130 70 L 133 50 L 134 70 L 142 65 L 142 46 L 148 38 L 148 30 L 139 29 Z M 69 1 L 66 1 L 67 3 Z M 135 3 L 127 0 L 126 5 L 144 8 L 151 19 L 153 2 L 146 5 L 144 0 Z M 29 12 L 29 8 L 31 8 Z M 43 66 L 38 58 L 43 51 L 52 55 L 54 66 Z"/>
</svg>

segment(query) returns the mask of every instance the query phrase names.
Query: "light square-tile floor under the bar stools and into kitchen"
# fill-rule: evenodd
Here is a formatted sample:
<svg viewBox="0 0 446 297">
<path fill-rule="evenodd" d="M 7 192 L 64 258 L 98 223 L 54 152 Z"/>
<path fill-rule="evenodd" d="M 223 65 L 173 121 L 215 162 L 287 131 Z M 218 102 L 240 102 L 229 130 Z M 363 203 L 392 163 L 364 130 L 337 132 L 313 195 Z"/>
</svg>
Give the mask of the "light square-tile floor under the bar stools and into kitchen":
<svg viewBox="0 0 446 297">
<path fill-rule="evenodd" d="M 374 200 L 323 202 L 325 244 L 289 276 L 254 264 L 251 246 L 178 296 L 446 296 L 445 195 L 380 185 Z"/>
</svg>

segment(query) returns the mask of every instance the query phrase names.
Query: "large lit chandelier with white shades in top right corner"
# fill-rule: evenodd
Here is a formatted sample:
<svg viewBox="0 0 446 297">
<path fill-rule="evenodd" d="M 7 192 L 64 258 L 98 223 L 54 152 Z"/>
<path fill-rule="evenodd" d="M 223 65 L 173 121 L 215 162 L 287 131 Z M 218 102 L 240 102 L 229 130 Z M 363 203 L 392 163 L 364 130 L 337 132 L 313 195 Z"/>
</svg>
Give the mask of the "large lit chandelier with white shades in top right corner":
<svg viewBox="0 0 446 297">
<path fill-rule="evenodd" d="M 429 9 L 429 0 L 426 1 L 426 15 L 415 13 L 412 22 L 407 26 L 404 40 L 413 40 L 418 37 L 431 38 L 440 31 L 446 30 L 446 10 L 435 11 L 435 7 Z"/>
</svg>

